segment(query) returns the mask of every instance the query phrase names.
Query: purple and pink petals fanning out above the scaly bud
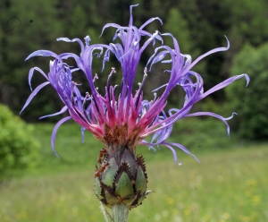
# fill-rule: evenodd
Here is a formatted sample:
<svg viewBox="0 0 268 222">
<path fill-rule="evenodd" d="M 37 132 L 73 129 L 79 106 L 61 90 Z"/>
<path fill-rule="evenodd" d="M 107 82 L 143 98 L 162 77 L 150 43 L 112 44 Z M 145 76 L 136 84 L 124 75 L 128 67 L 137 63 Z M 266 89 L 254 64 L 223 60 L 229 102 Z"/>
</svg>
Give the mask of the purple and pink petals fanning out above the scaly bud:
<svg viewBox="0 0 268 222">
<path fill-rule="evenodd" d="M 130 6 L 129 26 L 122 27 L 118 24 L 109 23 L 106 24 L 103 29 L 104 31 L 109 27 L 115 28 L 116 31 L 113 40 L 115 38 L 120 38 L 121 44 L 111 43 L 109 45 L 89 45 L 90 38 L 86 37 L 84 45 L 79 38 L 58 38 L 57 40 L 63 40 L 66 42 L 78 42 L 81 47 L 80 55 L 74 55 L 72 53 L 56 55 L 51 51 L 38 50 L 27 57 L 26 60 L 37 55 L 54 57 L 54 61 L 51 61 L 49 64 L 49 73 L 47 74 L 38 67 L 30 69 L 29 85 L 34 71 L 41 73 L 45 77 L 46 82 L 40 84 L 32 91 L 26 101 L 26 104 L 22 108 L 23 110 L 27 107 L 31 99 L 34 98 L 38 91 L 47 84 L 50 83 L 54 90 L 56 90 L 63 101 L 64 107 L 60 112 L 53 115 L 60 115 L 65 111 L 68 111 L 70 115 L 64 117 L 54 127 L 51 139 L 54 152 L 54 139 L 58 127 L 70 119 L 73 119 L 80 124 L 82 131 L 88 130 L 92 132 L 94 136 L 98 140 L 103 141 L 106 146 L 110 143 L 120 143 L 121 145 L 127 144 L 135 149 L 137 145 L 145 144 L 149 148 L 154 149 L 155 146 L 163 145 L 172 150 L 175 162 L 177 162 L 175 148 L 183 149 L 185 152 L 190 154 L 188 149 L 181 144 L 166 141 L 172 133 L 172 124 L 181 118 L 197 115 L 211 115 L 222 120 L 222 122 L 227 125 L 229 133 L 229 125 L 226 121 L 232 116 L 224 118 L 221 115 L 216 115 L 211 112 L 189 113 L 191 107 L 193 107 L 193 105 L 199 100 L 205 98 L 216 90 L 221 90 L 231 82 L 243 77 L 246 78 L 247 83 L 249 82 L 247 74 L 241 74 L 230 77 L 228 80 L 222 81 L 212 89 L 204 92 L 204 82 L 202 77 L 198 73 L 191 71 L 194 65 L 205 56 L 228 50 L 230 47 L 228 39 L 227 47 L 215 48 L 205 53 L 205 55 L 200 55 L 194 62 L 192 62 L 190 55 L 180 54 L 179 44 L 177 40 L 172 37 L 172 34 L 161 34 L 158 31 L 151 34 L 144 30 L 147 24 L 152 21 L 157 20 L 162 22 L 159 18 L 152 18 L 148 20 L 140 28 L 133 26 L 132 7 L 133 6 Z M 173 47 L 163 45 L 163 36 L 165 36 L 165 38 L 172 38 Z M 141 38 L 146 38 L 145 43 L 141 43 Z M 161 47 L 155 48 L 154 55 L 152 55 L 147 62 L 148 71 L 146 67 L 143 81 L 138 87 L 136 87 L 134 79 L 141 55 L 147 46 L 149 44 L 154 45 L 155 41 L 160 41 Z M 101 55 L 104 55 L 103 70 L 110 55 L 115 55 L 121 64 L 121 85 L 111 85 L 113 75 L 118 74 L 115 72 L 115 69 L 112 69 L 111 73 L 107 77 L 105 95 L 101 95 L 96 89 L 95 81 L 97 76 L 92 73 L 93 58 L 100 57 Z M 73 68 L 64 62 L 64 60 L 70 57 L 75 60 L 77 67 Z M 165 60 L 165 57 L 169 57 L 169 59 Z M 144 98 L 143 94 L 143 88 L 147 79 L 147 72 L 150 72 L 152 65 L 159 62 L 171 64 L 171 70 L 166 71 L 169 73 L 170 78 L 169 81 L 161 87 L 163 88 L 163 94 L 157 95 L 155 91 L 159 88 L 155 89 L 154 100 L 148 101 Z M 85 95 L 81 95 L 79 84 L 72 81 L 72 73 L 79 70 L 85 74 L 89 84 L 88 93 Z M 176 86 L 180 86 L 183 90 L 185 90 L 186 96 L 183 107 L 171 108 L 164 111 L 167 98 L 171 90 Z M 120 88 L 119 96 L 115 94 L 116 88 Z M 52 115 L 46 115 L 43 117 L 48 116 Z M 146 141 L 146 138 L 149 135 L 153 135 L 152 140 Z"/>
</svg>

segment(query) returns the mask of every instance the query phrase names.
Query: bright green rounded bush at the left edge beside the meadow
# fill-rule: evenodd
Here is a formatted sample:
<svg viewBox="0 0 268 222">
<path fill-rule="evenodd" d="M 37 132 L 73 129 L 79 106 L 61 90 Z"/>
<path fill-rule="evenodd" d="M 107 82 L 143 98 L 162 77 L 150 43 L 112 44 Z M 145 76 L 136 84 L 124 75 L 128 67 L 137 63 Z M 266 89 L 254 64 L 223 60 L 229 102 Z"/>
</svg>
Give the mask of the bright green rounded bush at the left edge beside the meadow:
<svg viewBox="0 0 268 222">
<path fill-rule="evenodd" d="M 0 104 L 0 182 L 35 166 L 39 143 L 33 128 Z"/>
</svg>

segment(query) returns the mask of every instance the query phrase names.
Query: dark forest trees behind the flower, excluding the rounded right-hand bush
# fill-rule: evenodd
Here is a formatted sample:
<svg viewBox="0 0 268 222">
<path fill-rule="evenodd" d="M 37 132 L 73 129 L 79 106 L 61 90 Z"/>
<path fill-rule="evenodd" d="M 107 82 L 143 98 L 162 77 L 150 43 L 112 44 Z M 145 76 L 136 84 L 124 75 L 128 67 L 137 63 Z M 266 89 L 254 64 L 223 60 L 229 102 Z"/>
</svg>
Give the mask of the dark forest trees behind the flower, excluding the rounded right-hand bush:
<svg viewBox="0 0 268 222">
<path fill-rule="evenodd" d="M 51 58 L 37 57 L 25 63 L 24 59 L 31 52 L 47 49 L 58 54 L 80 54 L 79 44 L 57 42 L 55 39 L 59 37 L 84 38 L 89 35 L 92 43 L 108 44 L 112 41 L 114 29 L 105 30 L 99 38 L 105 23 L 128 25 L 130 4 L 137 3 L 134 0 L 0 1 L 0 102 L 18 114 L 30 93 L 27 80 L 29 68 L 38 66 L 47 72 Z M 264 0 L 154 0 L 140 2 L 138 7 L 133 8 L 133 19 L 134 24 L 140 26 L 151 17 L 160 17 L 163 25 L 155 21 L 148 25 L 147 30 L 171 32 L 179 39 L 181 52 L 192 55 L 193 59 L 214 47 L 226 46 L 226 35 L 230 40 L 230 50 L 210 55 L 194 67 L 194 71 L 204 78 L 207 90 L 230 76 L 233 58 L 246 42 L 257 47 L 267 41 L 267 7 L 267 1 Z M 164 41 L 169 44 L 169 38 L 164 38 Z M 155 47 L 157 46 L 159 43 L 156 43 Z M 142 55 L 137 83 L 141 81 L 144 66 L 153 52 L 154 48 L 148 47 Z M 102 93 L 102 86 L 105 85 L 110 67 L 113 66 L 117 70 L 112 83 L 118 84 L 121 81 L 121 70 L 118 64 L 113 62 L 112 57 L 104 73 L 100 73 L 100 60 L 94 64 L 94 73 L 100 77 L 96 84 Z M 165 69 L 166 66 L 156 64 L 153 72 L 149 73 L 147 82 L 150 84 L 147 84 L 145 89 L 146 98 L 152 98 L 151 91 L 168 81 L 167 75 L 162 73 Z M 247 73 L 247 70 L 243 70 L 242 73 Z M 75 81 L 85 81 L 82 74 L 76 78 Z M 33 88 L 43 81 L 45 80 L 41 75 L 34 75 Z M 80 88 L 87 91 L 88 85 L 84 83 Z M 182 98 L 183 95 L 178 97 L 178 93 L 181 92 L 177 89 L 172 93 L 169 99 L 170 106 L 180 107 L 182 101 L 179 101 L 178 106 L 177 98 Z M 214 93 L 213 97 L 217 101 L 225 100 L 223 90 Z M 57 94 L 47 86 L 32 100 L 21 117 L 27 121 L 37 121 L 39 116 L 59 111 L 61 107 L 62 103 L 59 102 Z M 57 117 L 48 120 L 55 121 Z"/>
</svg>

